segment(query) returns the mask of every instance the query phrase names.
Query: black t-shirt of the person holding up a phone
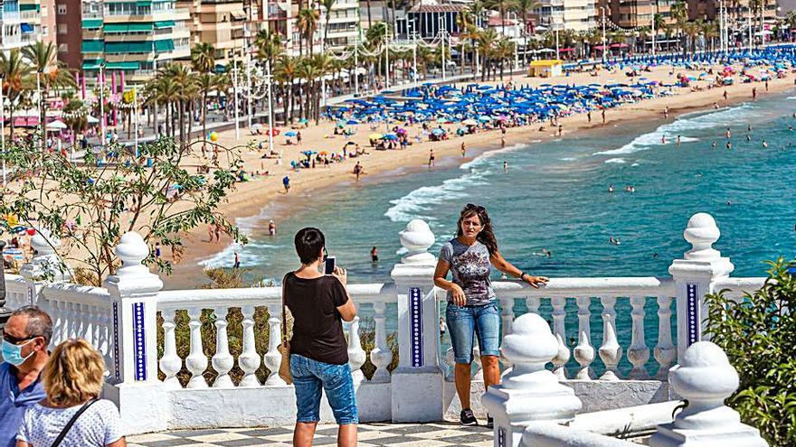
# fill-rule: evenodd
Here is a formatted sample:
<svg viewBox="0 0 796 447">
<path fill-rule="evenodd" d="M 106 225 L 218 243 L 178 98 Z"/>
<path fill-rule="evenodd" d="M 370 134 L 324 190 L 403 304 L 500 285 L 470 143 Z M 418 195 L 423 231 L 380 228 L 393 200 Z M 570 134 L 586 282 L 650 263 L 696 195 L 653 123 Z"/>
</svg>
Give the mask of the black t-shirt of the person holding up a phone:
<svg viewBox="0 0 796 447">
<path fill-rule="evenodd" d="M 285 276 L 285 304 L 293 314 L 290 353 L 324 363 L 348 363 L 346 337 L 337 307 L 348 301 L 343 284 L 334 276 Z"/>
</svg>

